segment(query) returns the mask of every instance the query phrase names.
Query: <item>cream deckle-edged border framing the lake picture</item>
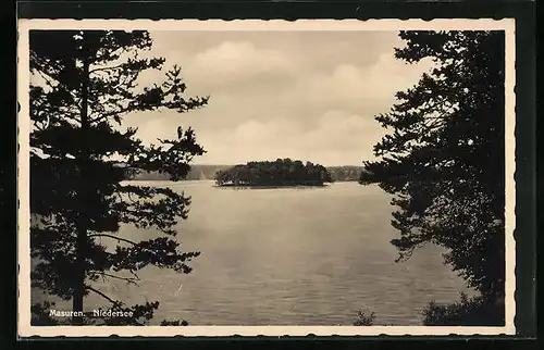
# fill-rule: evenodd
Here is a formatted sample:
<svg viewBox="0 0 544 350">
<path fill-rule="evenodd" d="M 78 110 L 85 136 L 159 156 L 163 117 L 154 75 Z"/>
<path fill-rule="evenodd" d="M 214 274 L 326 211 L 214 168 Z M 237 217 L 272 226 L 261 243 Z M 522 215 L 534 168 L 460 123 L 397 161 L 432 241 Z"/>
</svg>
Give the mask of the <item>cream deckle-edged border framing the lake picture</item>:
<svg viewBox="0 0 544 350">
<path fill-rule="evenodd" d="M 505 30 L 505 127 L 506 127 L 506 326 L 504 327 L 425 327 L 425 326 L 30 326 L 30 245 L 29 245 L 29 53 L 30 29 L 124 29 L 124 30 Z M 356 335 L 514 335 L 516 329 L 516 187 L 515 160 L 515 21 L 506 20 L 299 20 L 288 21 L 198 21 L 198 20 L 20 20 L 17 42 L 17 97 L 21 111 L 17 117 L 20 153 L 17 158 L 18 209 L 18 301 L 17 330 L 21 337 L 28 336 L 356 336 Z"/>
</svg>

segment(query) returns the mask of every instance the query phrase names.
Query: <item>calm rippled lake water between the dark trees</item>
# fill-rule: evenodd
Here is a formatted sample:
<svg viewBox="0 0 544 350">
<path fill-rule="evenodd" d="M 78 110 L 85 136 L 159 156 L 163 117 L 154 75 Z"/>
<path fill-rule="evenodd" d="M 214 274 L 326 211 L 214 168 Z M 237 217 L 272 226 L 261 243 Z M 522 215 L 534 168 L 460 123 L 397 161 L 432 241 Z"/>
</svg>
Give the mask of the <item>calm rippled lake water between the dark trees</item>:
<svg viewBox="0 0 544 350">
<path fill-rule="evenodd" d="M 419 325 L 429 301 L 455 301 L 466 290 L 443 265 L 438 247 L 394 262 L 392 207 L 378 186 L 236 190 L 212 182 L 149 184 L 193 197 L 177 236 L 184 250 L 201 251 L 190 263 L 193 273 L 149 267 L 139 273 L 140 287 L 97 287 L 127 304 L 159 300 L 151 324 L 183 318 L 191 325 L 351 325 L 362 310 L 374 311 L 376 324 Z M 156 233 L 123 227 L 121 236 Z M 106 305 L 99 298 L 89 297 L 86 308 Z"/>
</svg>

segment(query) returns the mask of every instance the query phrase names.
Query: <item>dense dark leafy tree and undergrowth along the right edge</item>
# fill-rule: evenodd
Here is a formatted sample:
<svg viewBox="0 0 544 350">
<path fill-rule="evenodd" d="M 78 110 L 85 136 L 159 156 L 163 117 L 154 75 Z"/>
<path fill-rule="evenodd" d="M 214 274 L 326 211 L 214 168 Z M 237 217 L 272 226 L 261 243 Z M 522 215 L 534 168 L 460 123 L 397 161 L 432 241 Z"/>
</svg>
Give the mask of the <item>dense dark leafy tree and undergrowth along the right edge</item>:
<svg viewBox="0 0 544 350">
<path fill-rule="evenodd" d="M 391 129 L 360 183 L 394 195 L 392 243 L 399 259 L 433 242 L 479 291 L 460 303 L 431 303 L 428 325 L 504 324 L 505 37 L 500 32 L 401 32 L 396 58 L 431 58 L 436 68 L 397 92 L 376 121 Z"/>
</svg>

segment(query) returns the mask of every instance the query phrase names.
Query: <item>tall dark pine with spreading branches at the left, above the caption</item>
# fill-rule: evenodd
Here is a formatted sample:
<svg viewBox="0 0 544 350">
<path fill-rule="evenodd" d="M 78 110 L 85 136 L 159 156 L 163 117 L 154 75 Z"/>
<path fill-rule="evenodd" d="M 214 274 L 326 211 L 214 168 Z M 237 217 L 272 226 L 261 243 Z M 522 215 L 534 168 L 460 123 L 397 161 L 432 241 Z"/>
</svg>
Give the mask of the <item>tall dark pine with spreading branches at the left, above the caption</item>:
<svg viewBox="0 0 544 350">
<path fill-rule="evenodd" d="M 177 220 L 186 218 L 190 198 L 168 188 L 122 184 L 125 168 L 185 176 L 189 162 L 205 151 L 193 129 L 177 139 L 144 145 L 136 129 L 115 129 L 131 112 L 173 110 L 185 113 L 203 107 L 208 98 L 188 98 L 176 66 L 160 85 L 141 88 L 138 76 L 161 71 L 162 58 L 144 59 L 152 40 L 147 32 L 32 30 L 30 32 L 30 228 L 32 286 L 84 311 L 84 297 L 96 293 L 113 311 L 133 317 L 103 320 L 110 325 L 146 324 L 159 302 L 125 305 L 94 287 L 92 282 L 136 284 L 147 265 L 189 273 L 187 263 L 199 252 L 184 252 L 173 239 Z M 134 241 L 119 236 L 121 224 L 153 228 L 159 237 Z M 149 230 L 151 233 L 151 230 Z M 102 241 L 115 243 L 108 249 Z M 124 273 L 123 273 L 124 272 Z M 49 304 L 33 305 L 33 324 L 57 322 Z M 73 325 L 99 320 L 76 315 Z M 163 324 L 180 324 L 180 321 Z M 185 324 L 185 322 L 181 322 Z"/>
</svg>

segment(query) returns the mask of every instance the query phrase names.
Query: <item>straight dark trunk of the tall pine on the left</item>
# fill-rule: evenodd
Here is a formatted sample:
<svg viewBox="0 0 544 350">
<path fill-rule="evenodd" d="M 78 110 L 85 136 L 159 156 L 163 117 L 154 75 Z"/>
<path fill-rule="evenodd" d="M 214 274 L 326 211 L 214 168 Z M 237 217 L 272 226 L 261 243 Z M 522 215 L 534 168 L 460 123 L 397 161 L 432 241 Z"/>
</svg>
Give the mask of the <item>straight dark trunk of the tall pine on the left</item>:
<svg viewBox="0 0 544 350">
<path fill-rule="evenodd" d="M 85 38 L 84 38 L 85 40 Z M 85 42 L 84 42 L 85 47 Z M 84 48 L 85 49 L 85 48 Z M 76 239 L 76 262 L 74 271 L 74 293 L 72 298 L 72 310 L 74 315 L 72 317 L 73 325 L 82 325 L 84 323 L 83 314 L 83 296 L 85 293 L 85 257 L 87 243 L 87 225 L 85 217 L 85 200 L 87 198 L 87 176 L 88 176 L 88 149 L 87 149 L 87 130 L 89 128 L 88 121 L 88 79 L 89 79 L 89 62 L 87 54 L 85 54 L 83 62 L 82 74 L 82 149 L 78 157 L 79 166 L 79 212 L 77 220 L 77 239 Z"/>
</svg>

